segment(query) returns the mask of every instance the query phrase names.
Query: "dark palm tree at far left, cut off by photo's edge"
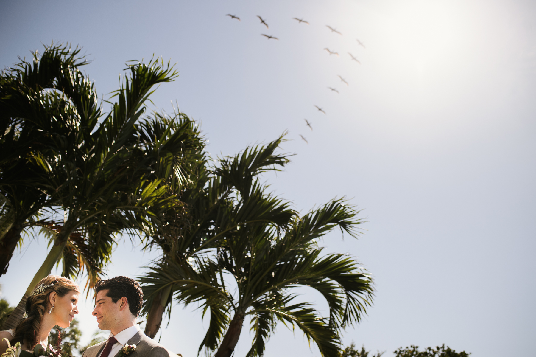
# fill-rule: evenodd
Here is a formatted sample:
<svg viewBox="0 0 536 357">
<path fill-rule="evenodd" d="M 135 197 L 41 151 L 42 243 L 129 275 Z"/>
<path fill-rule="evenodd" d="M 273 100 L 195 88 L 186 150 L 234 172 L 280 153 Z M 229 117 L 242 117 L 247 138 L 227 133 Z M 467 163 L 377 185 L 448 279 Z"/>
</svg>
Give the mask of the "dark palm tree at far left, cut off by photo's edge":
<svg viewBox="0 0 536 357">
<path fill-rule="evenodd" d="M 88 63 L 79 52 L 46 46 L 33 63 L 21 61 L 0 76 L 0 274 L 21 232 L 49 224 L 43 209 L 58 204 L 36 184 L 57 157 L 54 137 L 69 138 L 73 127 L 100 116 L 93 86 L 79 71 Z"/>
</svg>

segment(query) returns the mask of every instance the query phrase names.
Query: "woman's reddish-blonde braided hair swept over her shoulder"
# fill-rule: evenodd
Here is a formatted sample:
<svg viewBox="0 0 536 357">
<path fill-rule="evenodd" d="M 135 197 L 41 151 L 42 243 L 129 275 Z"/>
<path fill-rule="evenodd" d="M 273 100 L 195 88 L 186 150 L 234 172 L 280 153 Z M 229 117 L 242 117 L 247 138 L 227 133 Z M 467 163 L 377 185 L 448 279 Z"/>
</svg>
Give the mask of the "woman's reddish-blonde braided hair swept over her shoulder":
<svg viewBox="0 0 536 357">
<path fill-rule="evenodd" d="M 47 286 L 51 285 L 51 286 Z M 44 288 L 39 288 L 40 286 Z M 32 292 L 33 295 L 28 296 L 26 300 L 26 315 L 17 324 L 13 337 L 12 344 L 20 342 L 35 347 L 39 342 L 39 328 L 45 312 L 48 312 L 52 307 L 48 302 L 48 297 L 51 292 L 56 292 L 59 298 L 67 295 L 70 291 L 80 293 L 78 285 L 71 279 L 60 277 L 57 275 L 49 275 L 38 282 L 36 289 Z"/>
</svg>

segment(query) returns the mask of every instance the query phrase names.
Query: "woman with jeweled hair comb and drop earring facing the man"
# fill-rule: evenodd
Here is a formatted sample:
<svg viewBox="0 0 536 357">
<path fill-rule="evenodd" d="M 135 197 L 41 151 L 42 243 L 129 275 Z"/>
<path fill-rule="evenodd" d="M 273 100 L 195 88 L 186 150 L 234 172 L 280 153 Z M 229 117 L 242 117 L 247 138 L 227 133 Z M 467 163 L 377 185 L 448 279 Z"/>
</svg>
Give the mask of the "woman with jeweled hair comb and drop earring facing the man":
<svg viewBox="0 0 536 357">
<path fill-rule="evenodd" d="M 38 344 L 46 349 L 50 330 L 56 325 L 68 328 L 78 314 L 79 293 L 78 285 L 65 277 L 49 275 L 39 281 L 26 300 L 28 317 L 21 319 L 14 330 L 0 332 L 0 354 L 8 348 L 4 338 L 12 346 L 20 342 L 23 351 L 33 352 Z"/>
</svg>

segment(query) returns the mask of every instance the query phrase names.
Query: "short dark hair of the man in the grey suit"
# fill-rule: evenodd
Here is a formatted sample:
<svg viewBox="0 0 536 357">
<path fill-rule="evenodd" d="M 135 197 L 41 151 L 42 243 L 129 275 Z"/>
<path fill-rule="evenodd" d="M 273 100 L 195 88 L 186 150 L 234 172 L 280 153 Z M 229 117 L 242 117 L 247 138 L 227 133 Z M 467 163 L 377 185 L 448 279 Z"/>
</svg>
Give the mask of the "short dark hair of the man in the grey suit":
<svg viewBox="0 0 536 357">
<path fill-rule="evenodd" d="M 106 280 L 99 280 L 96 282 L 95 296 L 101 290 L 108 290 L 106 296 L 111 298 L 114 304 L 123 296 L 129 304 L 130 313 L 136 317 L 139 315 L 139 311 L 142 310 L 143 292 L 142 287 L 138 282 L 128 277 L 114 277 Z"/>
</svg>

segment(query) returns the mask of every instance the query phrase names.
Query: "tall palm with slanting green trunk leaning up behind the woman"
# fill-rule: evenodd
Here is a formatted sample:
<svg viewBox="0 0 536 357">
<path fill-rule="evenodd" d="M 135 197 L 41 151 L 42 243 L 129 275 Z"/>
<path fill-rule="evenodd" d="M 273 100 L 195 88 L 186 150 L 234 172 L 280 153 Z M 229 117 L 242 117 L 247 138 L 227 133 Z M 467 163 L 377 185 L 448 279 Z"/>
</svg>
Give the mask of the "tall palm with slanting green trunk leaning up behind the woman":
<svg viewBox="0 0 536 357">
<path fill-rule="evenodd" d="M 27 64 L 26 68 L 25 73 L 31 72 L 31 64 Z M 166 153 L 178 155 L 181 145 L 176 140 L 177 135 L 169 135 L 167 141 L 159 142 L 158 145 L 148 145 L 146 140 L 140 140 L 142 132 L 140 125 L 136 125 L 145 111 L 143 103 L 152 93 L 151 88 L 155 84 L 173 80 L 176 72 L 169 64 L 166 67 L 162 61 L 153 60 L 147 64 L 128 64 L 128 68 L 130 78 L 125 78 L 120 90 L 115 92 L 114 96 L 118 100 L 113 104 L 111 113 L 99 125 L 97 120 L 100 108 L 99 115 L 92 115 L 88 120 L 78 110 L 87 109 L 87 106 L 77 108 L 68 105 L 70 102 L 76 103 L 80 97 L 87 97 L 93 85 L 72 68 L 63 69 L 70 71 L 71 83 L 76 87 L 71 91 L 76 93 L 72 95 L 74 99 L 63 103 L 65 115 L 60 120 L 70 131 L 68 137 L 65 137 L 50 132 L 51 125 L 46 125 L 47 123 L 38 127 L 38 130 L 51 137 L 50 146 L 56 151 L 56 158 L 43 160 L 47 172 L 46 175 L 41 175 L 37 185 L 49 196 L 53 196 L 58 202 L 58 208 L 63 209 L 63 225 L 61 230 L 57 230 L 54 243 L 29 284 L 25 296 L 3 328 L 6 325 L 9 328 L 23 315 L 26 296 L 39 280 L 49 274 L 59 259 L 69 256 L 65 255 L 69 249 L 77 252 L 78 256 L 83 253 L 83 249 L 75 249 L 72 244 L 69 246 L 69 238 L 73 233 L 84 235 L 86 242 L 101 241 L 103 247 L 109 248 L 115 234 L 121 230 L 138 229 L 143 222 L 148 221 L 151 224 L 158 223 L 158 212 L 177 204 L 176 197 L 168 194 L 166 181 L 155 178 L 153 169 L 155 162 L 161 159 L 162 147 L 165 147 Z M 63 100 L 57 91 L 53 93 L 54 100 Z M 58 121 L 50 119 L 49 117 L 50 122 Z M 172 175 L 180 172 L 173 166 L 173 160 L 168 162 L 169 165 L 167 170 L 164 169 L 165 172 Z M 164 165 L 160 166 L 163 169 Z M 16 185 L 12 182 L 10 184 Z M 163 222 L 160 221 L 160 224 Z M 86 244 L 86 247 L 91 247 L 91 244 Z M 102 263 L 107 256 L 99 258 Z"/>
</svg>

